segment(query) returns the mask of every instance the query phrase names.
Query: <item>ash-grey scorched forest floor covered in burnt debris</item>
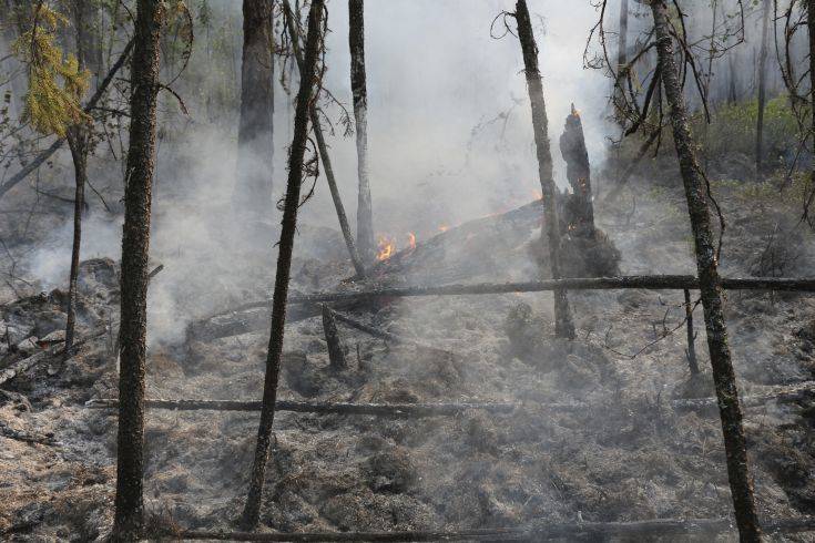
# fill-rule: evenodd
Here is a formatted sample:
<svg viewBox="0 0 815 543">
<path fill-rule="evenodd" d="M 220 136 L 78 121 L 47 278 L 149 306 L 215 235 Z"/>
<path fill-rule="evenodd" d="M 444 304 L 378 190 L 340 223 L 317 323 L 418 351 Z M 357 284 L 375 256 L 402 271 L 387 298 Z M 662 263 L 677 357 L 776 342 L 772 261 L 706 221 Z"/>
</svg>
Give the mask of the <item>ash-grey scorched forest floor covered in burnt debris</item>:
<svg viewBox="0 0 815 543">
<path fill-rule="evenodd" d="M 725 276 L 811 275 L 805 272 L 815 259 L 811 234 L 796 230 L 794 243 L 787 234 L 782 245 L 777 232 L 789 230 L 784 224 L 776 228 L 780 209 L 745 207 L 736 191 L 723 192 L 720 199 L 730 223 L 722 249 Z M 623 274 L 693 273 L 680 194 L 646 195 L 629 211 L 599 214 L 599 225 L 622 254 Z M 419 244 L 416 258 L 421 250 L 437 254 L 434 246 L 455 245 L 437 262 L 452 272 L 434 273 L 435 257 L 428 257 L 421 275 L 403 274 L 401 279 L 537 278 L 531 250 L 539 235 L 536 223 L 511 223 L 496 235 L 496 228 L 503 228 L 496 226 L 500 221 L 481 219 L 477 228 L 463 225 L 424 248 Z M 505 243 L 496 244 L 490 232 Z M 776 236 L 768 237 L 773 232 Z M 458 248 L 461 236 L 468 239 L 470 262 L 456 259 L 463 254 Z M 480 252 L 473 249 L 478 247 Z M 407 263 L 410 255 L 394 258 Z M 379 270 L 394 275 L 399 266 L 394 260 Z M 300 291 L 329 289 L 350 275 L 343 262 L 303 255 L 294 270 L 293 287 Z M 83 336 L 92 339 L 67 361 L 50 357 L 2 386 L 4 540 L 93 541 L 110 531 L 115 413 L 84 403 L 116 395 L 113 337 L 110 330 L 96 332 L 116 314 L 116 280 L 112 262 L 85 263 L 81 324 Z M 154 280 L 160 284 L 162 275 Z M 38 349 L 54 349 L 48 341 L 62 322 L 61 296 L 54 291 L 1 308 L 10 330 L 2 336 L 18 337 L 14 349 L 6 352 L 3 347 L 0 370 Z M 246 294 L 242 301 L 252 299 Z M 519 407 L 509 413 L 470 410 L 418 419 L 278 412 L 262 530 L 456 530 L 579 518 L 725 516 L 731 501 L 719 418 L 715 412 L 675 410 L 671 403 L 713 395 L 709 370 L 690 377 L 680 326 L 682 293 L 588 291 L 570 293 L 570 299 L 578 327 L 573 342 L 553 338 L 550 294 L 406 298 L 352 308 L 355 318 L 452 356 L 386 345 L 340 325 L 349 347 L 346 370 L 329 368 L 319 317 L 287 325 L 279 399 Z M 695 317 L 696 351 L 706 368 L 701 308 Z M 731 291 L 727 317 L 745 395 L 815 379 L 811 296 Z M 28 338 L 33 339 L 24 344 Z M 268 330 L 258 328 L 153 346 L 147 397 L 259 399 L 267 338 Z M 578 406 L 560 409 L 552 403 Z M 812 514 L 812 402 L 770 401 L 746 412 L 760 513 Z M 151 410 L 146 420 L 151 522 L 165 529 L 232 529 L 248 484 L 256 413 Z M 703 534 L 693 541 L 711 539 Z M 798 534 L 786 541 L 813 540 Z"/>
</svg>

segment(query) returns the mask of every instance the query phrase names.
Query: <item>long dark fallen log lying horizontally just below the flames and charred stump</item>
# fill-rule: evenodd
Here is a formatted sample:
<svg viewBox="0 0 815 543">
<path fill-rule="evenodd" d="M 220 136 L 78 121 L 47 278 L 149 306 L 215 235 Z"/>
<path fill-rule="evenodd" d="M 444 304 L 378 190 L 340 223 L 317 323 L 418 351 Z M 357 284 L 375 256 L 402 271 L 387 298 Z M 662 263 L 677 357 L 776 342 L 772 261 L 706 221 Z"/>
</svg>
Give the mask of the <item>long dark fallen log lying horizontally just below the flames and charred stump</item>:
<svg viewBox="0 0 815 543">
<path fill-rule="evenodd" d="M 589 277 L 548 279 L 522 283 L 480 283 L 473 285 L 409 286 L 378 288 L 347 293 L 315 293 L 292 296 L 289 304 L 325 304 L 369 298 L 399 298 L 409 296 L 466 296 L 509 293 L 541 293 L 547 290 L 613 290 L 642 288 L 649 290 L 697 289 L 699 279 L 692 275 L 633 275 L 623 277 Z M 730 290 L 815 291 L 815 278 L 723 278 L 722 288 Z"/>
</svg>

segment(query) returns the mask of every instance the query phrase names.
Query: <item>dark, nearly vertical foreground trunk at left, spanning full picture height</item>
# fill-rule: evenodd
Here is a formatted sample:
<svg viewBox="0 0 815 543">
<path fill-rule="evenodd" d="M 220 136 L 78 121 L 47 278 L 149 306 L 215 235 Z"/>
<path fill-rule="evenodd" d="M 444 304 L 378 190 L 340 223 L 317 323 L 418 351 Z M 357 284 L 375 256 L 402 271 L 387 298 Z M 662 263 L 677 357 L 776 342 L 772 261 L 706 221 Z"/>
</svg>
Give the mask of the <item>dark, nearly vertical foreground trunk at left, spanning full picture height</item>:
<svg viewBox="0 0 815 543">
<path fill-rule="evenodd" d="M 130 150 L 124 189 L 121 278 L 121 362 L 113 537 L 135 541 L 144 515 L 144 362 L 146 357 L 150 207 L 155 155 L 162 0 L 139 0 L 131 68 Z"/>
</svg>

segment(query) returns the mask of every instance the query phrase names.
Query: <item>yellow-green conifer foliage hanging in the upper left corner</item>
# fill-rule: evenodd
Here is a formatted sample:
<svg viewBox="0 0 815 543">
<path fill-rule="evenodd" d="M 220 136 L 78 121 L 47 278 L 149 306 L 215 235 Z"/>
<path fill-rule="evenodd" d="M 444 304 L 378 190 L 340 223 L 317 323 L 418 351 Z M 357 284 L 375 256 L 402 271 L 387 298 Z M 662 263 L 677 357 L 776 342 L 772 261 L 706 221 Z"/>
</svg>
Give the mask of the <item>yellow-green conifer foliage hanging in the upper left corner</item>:
<svg viewBox="0 0 815 543">
<path fill-rule="evenodd" d="M 22 119 L 42 134 L 65 136 L 68 127 L 86 120 L 80 105 L 90 73 L 57 45 L 57 31 L 68 20 L 45 2 L 33 14 L 31 29 L 13 43 L 14 54 L 28 65 L 29 89 Z M 60 84 L 61 82 L 61 84 Z"/>
</svg>

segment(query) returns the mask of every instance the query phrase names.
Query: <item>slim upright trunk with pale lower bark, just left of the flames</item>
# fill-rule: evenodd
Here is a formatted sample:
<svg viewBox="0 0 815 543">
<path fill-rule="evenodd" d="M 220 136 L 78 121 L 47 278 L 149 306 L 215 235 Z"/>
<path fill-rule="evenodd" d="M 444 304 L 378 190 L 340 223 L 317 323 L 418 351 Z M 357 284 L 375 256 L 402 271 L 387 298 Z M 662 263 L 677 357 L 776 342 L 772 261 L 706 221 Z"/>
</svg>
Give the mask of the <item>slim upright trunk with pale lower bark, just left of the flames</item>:
<svg viewBox="0 0 815 543">
<path fill-rule="evenodd" d="M 374 212 L 368 182 L 368 91 L 365 85 L 364 0 L 348 0 L 348 44 L 350 45 L 350 90 L 354 94 L 354 119 L 357 129 L 357 248 L 365 265 L 374 263 Z"/>
</svg>

